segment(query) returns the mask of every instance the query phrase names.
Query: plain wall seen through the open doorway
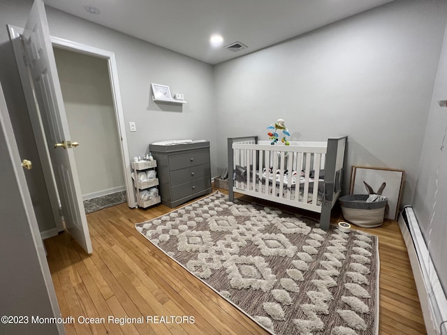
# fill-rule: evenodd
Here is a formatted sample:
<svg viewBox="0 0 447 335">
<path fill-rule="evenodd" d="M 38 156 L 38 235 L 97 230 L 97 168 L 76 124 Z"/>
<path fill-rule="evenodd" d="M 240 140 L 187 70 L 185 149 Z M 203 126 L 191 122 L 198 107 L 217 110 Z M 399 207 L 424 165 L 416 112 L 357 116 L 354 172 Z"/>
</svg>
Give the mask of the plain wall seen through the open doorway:
<svg viewBox="0 0 447 335">
<path fill-rule="evenodd" d="M 59 48 L 54 57 L 82 195 L 124 190 L 107 60 Z"/>
</svg>

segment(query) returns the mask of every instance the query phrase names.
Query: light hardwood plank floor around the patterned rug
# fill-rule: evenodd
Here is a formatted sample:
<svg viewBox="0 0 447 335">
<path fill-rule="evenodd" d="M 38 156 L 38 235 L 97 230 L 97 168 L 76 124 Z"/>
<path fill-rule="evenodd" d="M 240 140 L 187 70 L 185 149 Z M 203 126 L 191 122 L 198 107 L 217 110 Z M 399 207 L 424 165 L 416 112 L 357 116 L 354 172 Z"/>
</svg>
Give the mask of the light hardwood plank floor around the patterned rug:
<svg viewBox="0 0 447 335">
<path fill-rule="evenodd" d="M 67 334 L 268 334 L 135 230 L 135 223 L 170 210 L 163 205 L 142 210 L 119 204 L 87 214 L 94 249 L 91 255 L 66 233 L 45 240 L 62 316 L 76 320 L 66 324 Z M 334 222 L 338 221 L 337 215 L 332 218 Z M 426 334 L 397 223 L 386 221 L 380 228 L 362 230 L 379 236 L 379 334 Z M 141 324 L 119 320 L 141 315 L 159 315 L 167 320 L 186 316 L 193 320 L 145 320 Z M 118 319 L 114 323 L 109 316 Z M 81 321 L 82 317 L 97 318 L 99 323 L 81 323 L 78 317 Z"/>
</svg>

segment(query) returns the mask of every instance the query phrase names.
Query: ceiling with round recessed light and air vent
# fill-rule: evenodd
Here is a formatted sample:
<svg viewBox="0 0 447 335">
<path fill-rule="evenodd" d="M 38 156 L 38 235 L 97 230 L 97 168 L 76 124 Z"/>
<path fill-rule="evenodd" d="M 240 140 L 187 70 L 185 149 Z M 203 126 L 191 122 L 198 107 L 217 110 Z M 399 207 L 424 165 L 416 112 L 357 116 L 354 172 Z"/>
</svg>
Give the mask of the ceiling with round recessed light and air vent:
<svg viewBox="0 0 447 335">
<path fill-rule="evenodd" d="M 218 64 L 393 0 L 44 0 L 85 20 Z M 98 8 L 92 14 L 85 8 Z M 213 46 L 210 36 L 223 43 Z M 235 42 L 247 49 L 225 49 Z"/>
</svg>

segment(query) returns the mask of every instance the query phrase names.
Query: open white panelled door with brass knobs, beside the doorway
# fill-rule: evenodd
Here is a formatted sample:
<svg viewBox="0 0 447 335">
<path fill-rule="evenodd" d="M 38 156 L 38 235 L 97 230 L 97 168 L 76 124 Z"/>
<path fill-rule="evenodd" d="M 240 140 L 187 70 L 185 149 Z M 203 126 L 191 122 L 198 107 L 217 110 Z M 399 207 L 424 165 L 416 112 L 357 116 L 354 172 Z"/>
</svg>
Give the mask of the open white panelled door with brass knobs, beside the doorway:
<svg viewBox="0 0 447 335">
<path fill-rule="evenodd" d="M 89 228 L 73 154 L 73 149 L 78 143 L 71 139 L 68 131 L 50 30 L 42 0 L 34 1 L 22 41 L 66 229 L 87 253 L 91 253 Z M 24 66 L 24 64 L 19 61 L 17 66 Z"/>
</svg>

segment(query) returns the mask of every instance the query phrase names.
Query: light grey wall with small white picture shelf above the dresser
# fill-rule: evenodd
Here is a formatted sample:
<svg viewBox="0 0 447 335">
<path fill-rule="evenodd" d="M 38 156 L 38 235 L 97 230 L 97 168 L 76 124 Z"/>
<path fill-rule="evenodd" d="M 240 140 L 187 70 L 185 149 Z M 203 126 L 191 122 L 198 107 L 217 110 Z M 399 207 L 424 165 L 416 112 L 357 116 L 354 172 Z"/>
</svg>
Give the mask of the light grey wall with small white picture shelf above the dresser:
<svg viewBox="0 0 447 335">
<path fill-rule="evenodd" d="M 149 143 L 161 140 L 210 140 L 212 172 L 216 167 L 216 123 L 212 66 L 138 38 L 118 33 L 54 8 L 47 10 L 50 34 L 115 52 L 122 94 L 129 156 L 142 156 Z M 151 83 L 182 93 L 185 105 L 156 104 Z M 129 121 L 137 132 L 129 131 Z"/>
</svg>

